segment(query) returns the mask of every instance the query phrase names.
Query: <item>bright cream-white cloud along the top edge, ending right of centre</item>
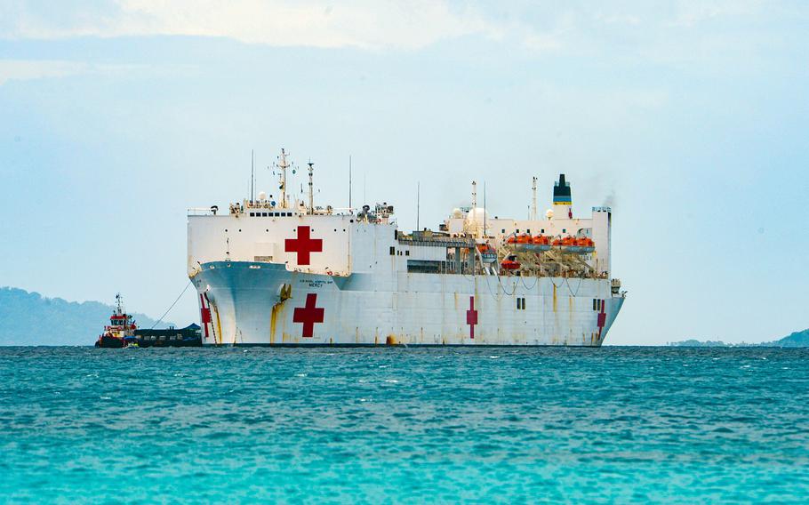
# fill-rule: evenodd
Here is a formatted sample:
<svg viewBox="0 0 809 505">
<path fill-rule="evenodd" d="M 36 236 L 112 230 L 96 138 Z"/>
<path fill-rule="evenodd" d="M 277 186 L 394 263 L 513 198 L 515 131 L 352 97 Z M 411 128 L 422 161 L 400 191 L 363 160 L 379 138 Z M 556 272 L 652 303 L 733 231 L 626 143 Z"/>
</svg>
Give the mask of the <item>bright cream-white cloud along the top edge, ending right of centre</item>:
<svg viewBox="0 0 809 505">
<path fill-rule="evenodd" d="M 443 2 L 428 0 L 354 0 L 337 4 L 118 0 L 116 8 L 108 12 L 76 8 L 70 14 L 63 18 L 44 16 L 18 4 L 7 8 L 6 15 L 16 20 L 3 31 L 12 38 L 222 36 L 256 44 L 366 49 L 418 49 L 458 36 L 501 36 L 501 28 L 471 9 L 453 9 Z"/>
</svg>

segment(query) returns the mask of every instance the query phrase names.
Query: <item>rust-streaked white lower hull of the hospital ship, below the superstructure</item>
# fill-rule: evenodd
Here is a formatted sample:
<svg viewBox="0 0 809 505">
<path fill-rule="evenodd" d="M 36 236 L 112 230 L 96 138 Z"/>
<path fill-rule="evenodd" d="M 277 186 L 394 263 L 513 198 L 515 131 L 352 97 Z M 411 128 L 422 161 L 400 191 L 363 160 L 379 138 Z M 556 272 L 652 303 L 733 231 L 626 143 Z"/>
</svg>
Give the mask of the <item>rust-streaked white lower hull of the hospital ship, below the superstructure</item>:
<svg viewBox="0 0 809 505">
<path fill-rule="evenodd" d="M 194 280 L 211 345 L 597 347 L 624 300 L 607 279 L 398 273 L 380 285 L 250 261 L 205 263 Z"/>
</svg>

